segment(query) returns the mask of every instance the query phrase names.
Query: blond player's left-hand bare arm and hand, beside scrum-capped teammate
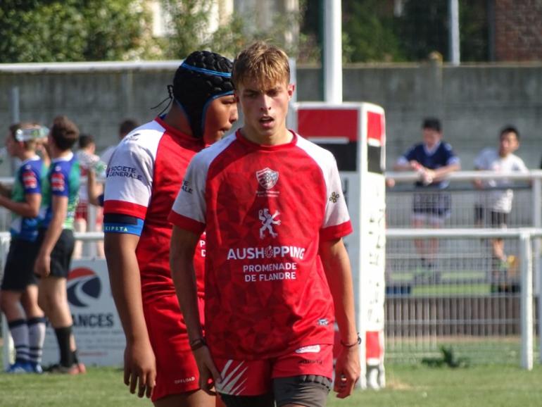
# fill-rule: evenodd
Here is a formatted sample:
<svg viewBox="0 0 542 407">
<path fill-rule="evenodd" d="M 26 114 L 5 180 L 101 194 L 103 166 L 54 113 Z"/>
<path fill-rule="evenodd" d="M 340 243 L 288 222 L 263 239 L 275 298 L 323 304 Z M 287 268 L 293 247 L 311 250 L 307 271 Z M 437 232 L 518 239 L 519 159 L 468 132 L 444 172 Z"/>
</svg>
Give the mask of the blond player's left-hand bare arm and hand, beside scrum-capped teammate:
<svg viewBox="0 0 542 407">
<path fill-rule="evenodd" d="M 171 276 L 175 284 L 175 292 L 179 299 L 184 322 L 187 324 L 190 342 L 203 338 L 203 330 L 198 310 L 198 294 L 196 289 L 196 273 L 194 272 L 194 251 L 199 236 L 177 226 L 173 226 L 170 246 Z M 220 373 L 213 363 L 207 346 L 194 351 L 194 358 L 200 372 L 199 385 L 210 394 L 213 384 L 209 380 L 220 383 Z"/>
</svg>

